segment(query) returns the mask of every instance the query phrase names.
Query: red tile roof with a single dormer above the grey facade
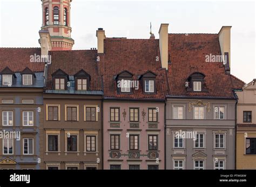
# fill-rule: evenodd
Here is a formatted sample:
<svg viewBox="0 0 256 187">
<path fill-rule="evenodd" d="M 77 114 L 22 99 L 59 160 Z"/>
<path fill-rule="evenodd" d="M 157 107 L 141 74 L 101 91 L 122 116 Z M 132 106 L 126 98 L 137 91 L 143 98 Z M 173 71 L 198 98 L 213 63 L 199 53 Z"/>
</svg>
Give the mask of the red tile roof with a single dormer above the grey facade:
<svg viewBox="0 0 256 187">
<path fill-rule="evenodd" d="M 232 90 L 241 81 L 234 81 L 233 76 L 226 74 L 223 63 L 206 62 L 205 56 L 210 54 L 221 55 L 218 34 L 169 34 L 171 96 L 234 98 Z M 208 92 L 186 91 L 185 82 L 194 72 L 205 74 Z"/>
</svg>

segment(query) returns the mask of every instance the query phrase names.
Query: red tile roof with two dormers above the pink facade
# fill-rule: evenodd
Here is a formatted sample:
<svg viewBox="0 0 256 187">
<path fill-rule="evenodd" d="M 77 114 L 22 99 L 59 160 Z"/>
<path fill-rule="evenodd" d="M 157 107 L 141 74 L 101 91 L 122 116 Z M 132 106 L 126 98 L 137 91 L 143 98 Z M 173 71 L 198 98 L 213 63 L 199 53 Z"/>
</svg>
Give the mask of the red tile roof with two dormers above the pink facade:
<svg viewBox="0 0 256 187">
<path fill-rule="evenodd" d="M 103 75 L 104 97 L 131 99 L 165 99 L 168 93 L 165 69 L 161 69 L 159 40 L 111 39 L 104 40 L 104 53 L 100 54 L 100 74 Z M 159 57 L 159 61 L 156 58 Z M 152 71 L 156 76 L 157 94 L 144 94 L 142 86 L 133 94 L 118 94 L 114 76 L 127 70 L 138 80 L 138 75 Z"/>
</svg>

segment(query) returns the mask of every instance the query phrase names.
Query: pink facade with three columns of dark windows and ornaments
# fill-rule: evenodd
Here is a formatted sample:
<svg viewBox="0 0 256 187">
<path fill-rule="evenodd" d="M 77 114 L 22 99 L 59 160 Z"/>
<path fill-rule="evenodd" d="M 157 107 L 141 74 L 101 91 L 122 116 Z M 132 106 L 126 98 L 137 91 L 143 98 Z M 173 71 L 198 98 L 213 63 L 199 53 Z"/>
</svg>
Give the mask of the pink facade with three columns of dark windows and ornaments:
<svg viewBox="0 0 256 187">
<path fill-rule="evenodd" d="M 119 121 L 111 121 L 111 108 L 119 109 Z M 139 122 L 130 121 L 130 108 L 138 109 Z M 164 102 L 104 101 L 104 169 L 164 169 L 164 108 Z M 157 122 L 149 122 L 149 109 L 156 109 Z"/>
</svg>

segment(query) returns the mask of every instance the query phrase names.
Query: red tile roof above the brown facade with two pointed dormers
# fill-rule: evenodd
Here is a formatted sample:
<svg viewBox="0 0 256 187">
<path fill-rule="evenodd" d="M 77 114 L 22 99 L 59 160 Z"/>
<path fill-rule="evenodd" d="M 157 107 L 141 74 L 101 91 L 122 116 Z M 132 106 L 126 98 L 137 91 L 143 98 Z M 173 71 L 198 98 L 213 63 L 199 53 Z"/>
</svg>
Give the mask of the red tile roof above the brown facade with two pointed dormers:
<svg viewBox="0 0 256 187">
<path fill-rule="evenodd" d="M 63 70 L 69 76 L 73 76 L 83 69 L 91 76 L 91 90 L 102 90 L 102 77 L 97 72 L 97 51 L 51 51 L 52 63 L 48 68 L 46 88 L 52 88 L 52 74 L 58 69 Z"/>
</svg>

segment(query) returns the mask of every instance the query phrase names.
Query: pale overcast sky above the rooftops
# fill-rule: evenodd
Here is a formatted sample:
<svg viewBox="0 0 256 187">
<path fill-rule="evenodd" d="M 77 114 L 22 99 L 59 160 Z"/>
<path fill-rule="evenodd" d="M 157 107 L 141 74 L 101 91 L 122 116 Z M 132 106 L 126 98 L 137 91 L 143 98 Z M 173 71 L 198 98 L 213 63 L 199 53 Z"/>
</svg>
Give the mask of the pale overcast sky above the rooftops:
<svg viewBox="0 0 256 187">
<path fill-rule="evenodd" d="M 169 33 L 218 33 L 231 28 L 231 73 L 242 81 L 256 78 L 254 1 L 87 1 L 71 3 L 73 49 L 97 47 L 96 30 L 106 37 L 159 38 Z M 0 47 L 40 47 L 41 0 L 0 0 Z"/>
</svg>

